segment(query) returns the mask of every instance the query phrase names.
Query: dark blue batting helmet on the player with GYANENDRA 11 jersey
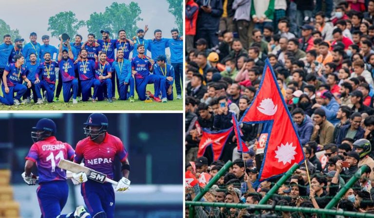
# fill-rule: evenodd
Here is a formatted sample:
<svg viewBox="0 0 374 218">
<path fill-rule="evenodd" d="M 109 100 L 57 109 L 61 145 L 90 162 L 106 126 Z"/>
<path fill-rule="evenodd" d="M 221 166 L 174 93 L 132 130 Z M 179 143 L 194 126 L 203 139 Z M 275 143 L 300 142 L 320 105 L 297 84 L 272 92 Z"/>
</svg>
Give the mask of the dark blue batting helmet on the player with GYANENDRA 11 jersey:
<svg viewBox="0 0 374 218">
<path fill-rule="evenodd" d="M 43 139 L 46 139 L 50 136 L 56 134 L 56 124 L 53 120 L 43 118 L 37 122 L 37 126 L 32 128 L 31 138 L 33 142 L 39 142 Z"/>
</svg>

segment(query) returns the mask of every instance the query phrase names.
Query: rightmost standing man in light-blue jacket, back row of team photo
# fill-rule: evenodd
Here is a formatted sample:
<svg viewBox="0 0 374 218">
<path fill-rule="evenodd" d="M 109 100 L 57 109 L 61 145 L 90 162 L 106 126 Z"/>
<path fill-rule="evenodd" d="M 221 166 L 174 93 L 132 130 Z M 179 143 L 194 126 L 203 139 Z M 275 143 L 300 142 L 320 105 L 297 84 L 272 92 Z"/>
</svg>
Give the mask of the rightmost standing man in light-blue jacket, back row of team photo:
<svg viewBox="0 0 374 218">
<path fill-rule="evenodd" d="M 174 83 L 177 91 L 177 99 L 182 99 L 183 88 L 183 40 L 180 39 L 178 29 L 172 29 L 172 39 L 168 40 L 170 48 L 170 63 L 174 68 Z"/>
</svg>

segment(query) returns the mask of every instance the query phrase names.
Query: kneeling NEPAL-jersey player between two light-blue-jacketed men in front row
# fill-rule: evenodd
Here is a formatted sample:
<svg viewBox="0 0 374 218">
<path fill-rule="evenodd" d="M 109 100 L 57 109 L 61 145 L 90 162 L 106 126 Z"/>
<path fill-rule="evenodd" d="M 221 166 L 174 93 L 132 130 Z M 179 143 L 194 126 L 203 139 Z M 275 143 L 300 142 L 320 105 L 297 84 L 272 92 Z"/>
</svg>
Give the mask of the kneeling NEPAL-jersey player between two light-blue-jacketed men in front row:
<svg viewBox="0 0 374 218">
<path fill-rule="evenodd" d="M 154 93 L 162 93 L 162 100 L 158 96 L 154 96 L 154 101 L 156 102 L 167 102 L 166 90 L 165 90 L 165 78 L 150 74 L 153 71 L 154 60 L 150 57 L 144 55 L 145 47 L 139 44 L 137 47 L 139 53 L 138 56 L 131 59 L 131 69 L 132 74 L 135 77 L 135 89 L 138 93 L 139 99 L 141 101 L 146 100 L 146 88 L 147 84 L 154 84 Z M 147 91 L 150 95 L 150 91 Z M 157 94 L 158 95 L 158 94 Z"/>
</svg>

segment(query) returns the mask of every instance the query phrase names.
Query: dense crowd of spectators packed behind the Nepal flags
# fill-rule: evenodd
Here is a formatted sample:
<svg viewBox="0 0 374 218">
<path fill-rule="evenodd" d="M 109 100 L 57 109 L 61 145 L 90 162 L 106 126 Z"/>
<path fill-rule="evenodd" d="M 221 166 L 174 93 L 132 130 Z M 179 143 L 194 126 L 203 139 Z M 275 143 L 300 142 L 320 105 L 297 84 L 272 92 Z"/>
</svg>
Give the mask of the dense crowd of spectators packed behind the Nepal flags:
<svg viewBox="0 0 374 218">
<path fill-rule="evenodd" d="M 232 127 L 260 88 L 266 58 L 277 76 L 307 159 L 268 203 L 324 208 L 362 166 L 362 177 L 334 209 L 374 210 L 374 0 L 187 0 L 186 170 L 212 177 L 233 166 L 205 201 L 257 204 L 278 178 L 254 183 L 262 124 L 241 124 L 249 153 L 232 132 L 220 160 L 197 157 L 201 131 Z M 262 87 L 265 88 L 265 87 Z M 195 162 L 196 171 L 189 162 Z M 186 187 L 186 200 L 200 192 Z M 188 207 L 187 207 L 188 209 Z M 251 217 L 253 211 L 195 207 L 197 217 Z M 273 213 L 273 212 L 271 212 Z M 274 212 L 275 213 L 275 212 Z M 186 210 L 188 214 L 188 210 Z M 281 212 L 280 217 L 312 217 Z"/>
</svg>

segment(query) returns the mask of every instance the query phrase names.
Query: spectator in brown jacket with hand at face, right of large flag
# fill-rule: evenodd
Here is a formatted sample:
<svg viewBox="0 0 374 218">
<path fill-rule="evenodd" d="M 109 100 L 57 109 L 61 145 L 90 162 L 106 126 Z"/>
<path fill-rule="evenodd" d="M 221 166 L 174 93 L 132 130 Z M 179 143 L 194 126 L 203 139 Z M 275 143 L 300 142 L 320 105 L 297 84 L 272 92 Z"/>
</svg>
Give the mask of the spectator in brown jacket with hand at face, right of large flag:
<svg viewBox="0 0 374 218">
<path fill-rule="evenodd" d="M 333 142 L 334 125 L 326 120 L 326 112 L 323 109 L 314 111 L 313 121 L 315 122 L 313 134 L 310 141 L 316 141 L 319 148 Z"/>
</svg>

